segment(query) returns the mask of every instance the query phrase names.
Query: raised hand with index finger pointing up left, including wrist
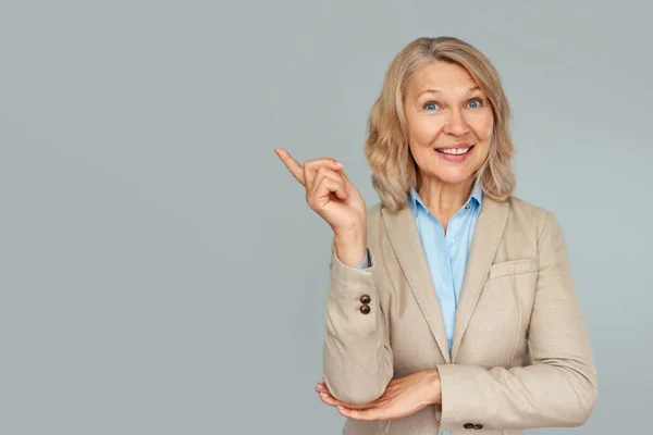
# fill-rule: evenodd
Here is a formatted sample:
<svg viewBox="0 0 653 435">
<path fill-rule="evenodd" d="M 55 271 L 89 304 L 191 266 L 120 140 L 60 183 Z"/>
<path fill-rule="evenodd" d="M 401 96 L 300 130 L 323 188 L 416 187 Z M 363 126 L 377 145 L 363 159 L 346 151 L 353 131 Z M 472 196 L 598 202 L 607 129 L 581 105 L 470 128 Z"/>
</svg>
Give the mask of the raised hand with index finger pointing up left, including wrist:
<svg viewBox="0 0 653 435">
<path fill-rule="evenodd" d="M 274 152 L 305 187 L 311 210 L 333 229 L 338 259 L 349 266 L 360 264 L 367 247 L 366 203 L 343 172 L 342 163 L 321 158 L 301 165 L 283 148 Z"/>
</svg>

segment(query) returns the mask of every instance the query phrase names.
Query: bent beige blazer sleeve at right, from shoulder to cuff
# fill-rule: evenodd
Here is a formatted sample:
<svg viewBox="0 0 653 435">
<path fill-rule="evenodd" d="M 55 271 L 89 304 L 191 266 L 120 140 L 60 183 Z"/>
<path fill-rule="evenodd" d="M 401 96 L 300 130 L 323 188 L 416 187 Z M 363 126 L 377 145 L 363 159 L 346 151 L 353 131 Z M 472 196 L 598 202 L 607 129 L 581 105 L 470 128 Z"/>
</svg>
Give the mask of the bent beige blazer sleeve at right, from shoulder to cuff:
<svg viewBox="0 0 653 435">
<path fill-rule="evenodd" d="M 579 426 L 596 401 L 588 331 L 578 304 L 557 220 L 546 213 L 538 241 L 539 275 L 523 368 L 438 365 L 441 430 Z"/>
</svg>

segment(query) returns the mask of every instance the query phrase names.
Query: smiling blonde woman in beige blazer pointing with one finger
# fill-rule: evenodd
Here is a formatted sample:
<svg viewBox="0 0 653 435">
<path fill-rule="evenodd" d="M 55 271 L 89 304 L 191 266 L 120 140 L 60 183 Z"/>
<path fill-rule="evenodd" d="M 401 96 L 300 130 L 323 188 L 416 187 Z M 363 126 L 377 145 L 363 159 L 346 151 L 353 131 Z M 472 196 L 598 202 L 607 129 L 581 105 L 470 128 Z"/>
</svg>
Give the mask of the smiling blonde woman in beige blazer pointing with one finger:
<svg viewBox="0 0 653 435">
<path fill-rule="evenodd" d="M 509 117 L 482 53 L 420 38 L 391 63 L 369 117 L 379 203 L 368 209 L 335 160 L 275 150 L 334 233 L 316 390 L 345 434 L 520 434 L 592 412 L 564 236 L 513 195 Z"/>
</svg>

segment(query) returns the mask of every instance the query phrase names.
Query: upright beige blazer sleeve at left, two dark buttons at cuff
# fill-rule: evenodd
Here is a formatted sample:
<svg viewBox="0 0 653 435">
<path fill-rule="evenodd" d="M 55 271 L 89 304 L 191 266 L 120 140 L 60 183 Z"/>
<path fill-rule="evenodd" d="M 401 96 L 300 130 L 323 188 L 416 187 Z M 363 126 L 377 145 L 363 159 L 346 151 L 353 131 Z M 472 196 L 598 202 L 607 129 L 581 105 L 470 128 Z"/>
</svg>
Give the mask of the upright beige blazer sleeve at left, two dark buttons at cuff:
<svg viewBox="0 0 653 435">
<path fill-rule="evenodd" d="M 332 247 L 326 296 L 324 381 L 336 399 L 355 405 L 381 397 L 393 376 L 387 323 L 374 284 L 374 254 L 369 249 L 367 254 L 368 268 L 353 269 Z M 366 304 L 369 312 L 361 311 Z"/>
</svg>

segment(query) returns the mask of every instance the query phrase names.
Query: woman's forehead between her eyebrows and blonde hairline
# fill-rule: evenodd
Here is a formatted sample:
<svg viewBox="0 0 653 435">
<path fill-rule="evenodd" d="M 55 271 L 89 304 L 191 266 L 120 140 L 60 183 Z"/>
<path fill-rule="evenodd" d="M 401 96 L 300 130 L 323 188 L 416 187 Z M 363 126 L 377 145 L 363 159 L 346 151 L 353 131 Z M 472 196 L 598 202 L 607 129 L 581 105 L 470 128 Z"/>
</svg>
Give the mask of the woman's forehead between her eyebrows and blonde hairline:
<svg viewBox="0 0 653 435">
<path fill-rule="evenodd" d="M 443 94 L 458 94 L 476 86 L 478 84 L 463 66 L 435 62 L 415 72 L 408 86 L 408 94 L 418 95 L 427 89 L 435 89 Z"/>
</svg>

